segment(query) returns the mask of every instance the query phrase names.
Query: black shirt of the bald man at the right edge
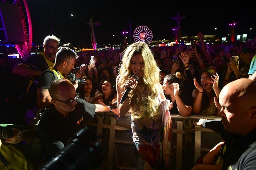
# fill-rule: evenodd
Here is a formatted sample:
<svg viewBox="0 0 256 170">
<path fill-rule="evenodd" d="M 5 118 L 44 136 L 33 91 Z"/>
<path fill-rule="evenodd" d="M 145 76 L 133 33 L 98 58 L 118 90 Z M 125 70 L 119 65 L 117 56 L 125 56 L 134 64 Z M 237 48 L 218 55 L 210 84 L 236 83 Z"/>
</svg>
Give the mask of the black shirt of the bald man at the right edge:
<svg viewBox="0 0 256 170">
<path fill-rule="evenodd" d="M 227 132 L 222 120 L 205 120 L 203 126 L 221 134 L 226 141 L 222 169 L 256 169 L 256 129 L 247 136 Z"/>
</svg>

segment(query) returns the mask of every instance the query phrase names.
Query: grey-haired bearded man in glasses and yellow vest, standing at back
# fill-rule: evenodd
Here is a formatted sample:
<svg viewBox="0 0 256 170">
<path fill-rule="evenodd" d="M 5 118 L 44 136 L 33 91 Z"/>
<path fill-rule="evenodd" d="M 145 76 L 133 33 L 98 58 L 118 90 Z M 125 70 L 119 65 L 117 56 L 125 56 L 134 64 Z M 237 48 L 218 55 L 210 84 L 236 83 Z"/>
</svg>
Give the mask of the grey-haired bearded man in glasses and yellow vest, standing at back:
<svg viewBox="0 0 256 170">
<path fill-rule="evenodd" d="M 58 51 L 60 39 L 54 35 L 48 35 L 44 38 L 44 52 L 27 58 L 22 63 L 15 66 L 13 74 L 28 77 L 29 83 L 26 85 L 26 91 L 23 106 L 26 109 L 37 106 L 37 84 L 41 74 L 52 67 L 55 62 L 56 52 Z"/>
</svg>

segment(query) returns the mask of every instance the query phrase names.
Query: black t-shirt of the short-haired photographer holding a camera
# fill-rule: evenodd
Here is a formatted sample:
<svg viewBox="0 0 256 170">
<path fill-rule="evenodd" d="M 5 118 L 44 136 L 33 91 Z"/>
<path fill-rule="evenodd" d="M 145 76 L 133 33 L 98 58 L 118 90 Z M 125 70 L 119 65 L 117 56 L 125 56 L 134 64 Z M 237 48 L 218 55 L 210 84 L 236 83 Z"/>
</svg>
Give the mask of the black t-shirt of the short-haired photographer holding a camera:
<svg viewBox="0 0 256 170">
<path fill-rule="evenodd" d="M 50 85 L 54 80 L 57 80 L 58 77 L 51 70 L 46 70 L 40 76 L 38 81 L 38 88 L 49 89 Z"/>
</svg>

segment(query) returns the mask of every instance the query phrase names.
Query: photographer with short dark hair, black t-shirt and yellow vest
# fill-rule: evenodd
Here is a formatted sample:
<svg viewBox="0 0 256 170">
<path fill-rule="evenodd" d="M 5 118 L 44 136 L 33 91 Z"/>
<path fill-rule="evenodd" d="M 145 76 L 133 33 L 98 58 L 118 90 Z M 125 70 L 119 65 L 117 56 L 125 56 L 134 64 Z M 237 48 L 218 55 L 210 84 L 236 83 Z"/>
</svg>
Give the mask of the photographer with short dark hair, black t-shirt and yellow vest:
<svg viewBox="0 0 256 170">
<path fill-rule="evenodd" d="M 71 72 L 71 70 L 74 68 L 76 58 L 76 53 L 70 48 L 59 47 L 54 66 L 44 71 L 39 79 L 37 89 L 37 102 L 39 107 L 44 108 L 52 104 L 52 97 L 48 91 L 49 86 L 54 80 L 64 78 L 64 75 Z M 78 86 L 77 80 L 73 85 L 76 89 Z"/>
</svg>

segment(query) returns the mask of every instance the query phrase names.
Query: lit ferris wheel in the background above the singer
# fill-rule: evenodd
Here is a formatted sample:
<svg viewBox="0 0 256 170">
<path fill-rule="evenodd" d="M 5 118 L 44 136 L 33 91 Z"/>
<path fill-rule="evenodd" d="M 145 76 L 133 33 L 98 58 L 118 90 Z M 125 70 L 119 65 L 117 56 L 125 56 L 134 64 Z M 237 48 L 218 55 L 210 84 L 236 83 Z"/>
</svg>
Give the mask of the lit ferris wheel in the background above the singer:
<svg viewBox="0 0 256 170">
<path fill-rule="evenodd" d="M 146 26 L 139 26 L 133 32 L 133 39 L 135 42 L 143 41 L 150 44 L 153 38 L 153 34 L 150 28 Z"/>
</svg>

